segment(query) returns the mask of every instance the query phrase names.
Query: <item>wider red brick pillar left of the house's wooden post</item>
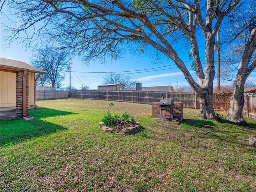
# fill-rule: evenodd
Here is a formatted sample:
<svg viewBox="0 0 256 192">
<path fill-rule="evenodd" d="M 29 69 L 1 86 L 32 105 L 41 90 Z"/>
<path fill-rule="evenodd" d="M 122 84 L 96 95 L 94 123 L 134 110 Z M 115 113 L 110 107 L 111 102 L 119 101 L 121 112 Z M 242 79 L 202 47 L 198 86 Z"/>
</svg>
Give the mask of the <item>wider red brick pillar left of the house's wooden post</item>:
<svg viewBox="0 0 256 192">
<path fill-rule="evenodd" d="M 18 71 L 16 73 L 16 116 L 22 116 L 22 77 L 23 72 Z"/>
</svg>

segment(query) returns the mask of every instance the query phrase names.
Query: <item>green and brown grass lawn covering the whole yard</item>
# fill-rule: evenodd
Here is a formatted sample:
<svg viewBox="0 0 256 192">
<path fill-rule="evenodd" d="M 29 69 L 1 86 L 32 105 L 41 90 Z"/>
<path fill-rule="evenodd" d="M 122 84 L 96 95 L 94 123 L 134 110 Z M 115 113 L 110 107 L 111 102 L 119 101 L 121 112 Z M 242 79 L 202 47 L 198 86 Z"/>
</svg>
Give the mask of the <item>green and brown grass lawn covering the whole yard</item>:
<svg viewBox="0 0 256 192">
<path fill-rule="evenodd" d="M 114 102 L 143 126 L 132 135 L 101 131 L 107 101 L 37 101 L 34 120 L 1 120 L 1 191 L 255 191 L 256 121 L 237 126 L 198 120 L 150 119 L 152 106 Z"/>
</svg>

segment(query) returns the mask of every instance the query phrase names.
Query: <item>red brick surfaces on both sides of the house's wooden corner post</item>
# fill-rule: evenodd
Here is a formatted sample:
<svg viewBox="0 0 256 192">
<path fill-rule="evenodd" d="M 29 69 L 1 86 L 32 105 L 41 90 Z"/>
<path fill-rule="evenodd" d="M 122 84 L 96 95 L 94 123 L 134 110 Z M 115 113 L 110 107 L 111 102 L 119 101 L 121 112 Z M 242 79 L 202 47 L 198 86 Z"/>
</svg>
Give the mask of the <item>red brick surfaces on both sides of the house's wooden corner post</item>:
<svg viewBox="0 0 256 192">
<path fill-rule="evenodd" d="M 16 73 L 16 116 L 20 117 L 23 115 L 23 71 L 18 71 Z M 26 114 L 28 115 L 28 75 L 26 78 Z"/>
</svg>

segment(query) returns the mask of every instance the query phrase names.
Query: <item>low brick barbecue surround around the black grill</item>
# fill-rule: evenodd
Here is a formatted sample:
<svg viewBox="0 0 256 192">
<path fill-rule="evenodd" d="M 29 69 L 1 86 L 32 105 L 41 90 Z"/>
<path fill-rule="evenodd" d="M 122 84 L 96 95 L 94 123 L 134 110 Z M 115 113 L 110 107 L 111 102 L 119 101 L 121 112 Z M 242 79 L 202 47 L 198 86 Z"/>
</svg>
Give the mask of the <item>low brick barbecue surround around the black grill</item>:
<svg viewBox="0 0 256 192">
<path fill-rule="evenodd" d="M 152 116 L 154 118 L 160 118 L 160 107 L 156 106 L 159 105 L 159 102 L 152 103 Z M 182 122 L 183 120 L 183 103 L 174 103 L 173 106 L 173 116 L 179 121 Z M 172 111 L 171 111 L 172 113 Z M 171 114 L 172 115 L 172 114 Z M 163 116 L 163 111 L 162 111 Z M 164 116 L 169 116 L 169 109 L 164 109 Z"/>
</svg>

